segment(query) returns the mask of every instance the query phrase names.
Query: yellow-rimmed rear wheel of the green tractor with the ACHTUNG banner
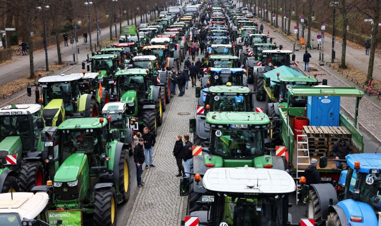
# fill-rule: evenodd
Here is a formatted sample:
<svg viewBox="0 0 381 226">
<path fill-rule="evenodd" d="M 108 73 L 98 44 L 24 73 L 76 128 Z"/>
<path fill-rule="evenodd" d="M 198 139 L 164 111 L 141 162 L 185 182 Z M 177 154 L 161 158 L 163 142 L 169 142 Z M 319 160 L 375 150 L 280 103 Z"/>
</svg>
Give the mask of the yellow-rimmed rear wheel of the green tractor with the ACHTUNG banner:
<svg viewBox="0 0 381 226">
<path fill-rule="evenodd" d="M 130 164 L 127 153 L 128 149 L 123 149 L 119 159 L 119 191 L 123 196 L 123 202 L 127 202 L 130 199 Z"/>
</svg>

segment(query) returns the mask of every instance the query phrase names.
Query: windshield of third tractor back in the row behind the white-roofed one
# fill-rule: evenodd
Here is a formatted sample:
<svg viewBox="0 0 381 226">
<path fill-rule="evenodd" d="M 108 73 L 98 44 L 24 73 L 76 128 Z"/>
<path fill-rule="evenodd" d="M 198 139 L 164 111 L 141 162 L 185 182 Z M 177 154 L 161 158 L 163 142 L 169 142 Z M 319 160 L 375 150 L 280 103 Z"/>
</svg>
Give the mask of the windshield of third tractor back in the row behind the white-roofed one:
<svg viewBox="0 0 381 226">
<path fill-rule="evenodd" d="M 246 98 L 245 98 L 246 97 Z M 211 111 L 247 111 L 248 96 L 213 95 L 211 97 Z"/>
</svg>

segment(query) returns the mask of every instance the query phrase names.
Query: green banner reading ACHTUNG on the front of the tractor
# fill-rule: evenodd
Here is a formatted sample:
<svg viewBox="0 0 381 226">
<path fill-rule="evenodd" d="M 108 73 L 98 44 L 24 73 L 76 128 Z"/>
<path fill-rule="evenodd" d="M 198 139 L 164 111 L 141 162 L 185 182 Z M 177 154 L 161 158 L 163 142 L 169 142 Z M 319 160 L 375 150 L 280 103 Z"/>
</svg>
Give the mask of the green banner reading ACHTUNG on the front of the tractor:
<svg viewBox="0 0 381 226">
<path fill-rule="evenodd" d="M 82 226 L 81 210 L 52 210 L 48 211 L 49 224 L 56 225 L 57 220 L 62 220 L 61 226 Z"/>
</svg>

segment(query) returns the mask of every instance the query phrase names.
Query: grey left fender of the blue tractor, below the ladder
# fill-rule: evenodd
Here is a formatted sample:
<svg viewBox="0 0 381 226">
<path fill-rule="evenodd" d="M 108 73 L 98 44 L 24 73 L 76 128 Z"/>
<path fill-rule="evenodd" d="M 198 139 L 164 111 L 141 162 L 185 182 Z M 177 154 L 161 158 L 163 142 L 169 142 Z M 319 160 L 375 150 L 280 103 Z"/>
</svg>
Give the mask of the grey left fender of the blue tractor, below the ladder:
<svg viewBox="0 0 381 226">
<path fill-rule="evenodd" d="M 311 184 L 312 189 L 319 198 L 320 209 L 322 211 L 322 219 L 327 220 L 327 211 L 329 207 L 329 199 L 333 200 L 333 204 L 338 202 L 335 188 L 330 183 Z"/>
</svg>

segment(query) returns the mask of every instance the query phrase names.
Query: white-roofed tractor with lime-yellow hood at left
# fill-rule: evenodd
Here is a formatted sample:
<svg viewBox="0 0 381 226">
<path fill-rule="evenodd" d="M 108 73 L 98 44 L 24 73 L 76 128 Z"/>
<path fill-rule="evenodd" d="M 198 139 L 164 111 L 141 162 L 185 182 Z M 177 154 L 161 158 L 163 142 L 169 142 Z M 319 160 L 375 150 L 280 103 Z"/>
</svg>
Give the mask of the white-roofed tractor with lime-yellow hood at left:
<svg viewBox="0 0 381 226">
<path fill-rule="evenodd" d="M 36 85 L 36 103 L 44 106 L 43 117 L 47 126 L 58 126 L 71 117 L 97 117 L 99 106 L 96 95 L 81 94 L 80 84 L 83 74 L 61 74 L 39 79 Z M 42 98 L 39 88 L 41 87 Z M 31 86 L 27 87 L 31 96 Z"/>
</svg>

